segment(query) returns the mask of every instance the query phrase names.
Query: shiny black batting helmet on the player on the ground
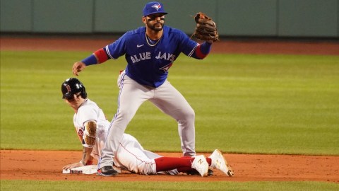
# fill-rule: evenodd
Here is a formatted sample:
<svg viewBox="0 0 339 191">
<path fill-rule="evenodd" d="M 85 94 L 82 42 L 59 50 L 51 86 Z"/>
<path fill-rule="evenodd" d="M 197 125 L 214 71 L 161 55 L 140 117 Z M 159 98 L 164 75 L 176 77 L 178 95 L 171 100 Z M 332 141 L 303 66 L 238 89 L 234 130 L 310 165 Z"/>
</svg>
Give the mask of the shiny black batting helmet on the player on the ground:
<svg viewBox="0 0 339 191">
<path fill-rule="evenodd" d="M 85 86 L 83 86 L 83 83 L 76 78 L 66 79 L 61 84 L 61 92 L 63 99 L 73 98 L 73 95 L 78 92 L 80 92 L 82 98 L 87 98 Z"/>
</svg>

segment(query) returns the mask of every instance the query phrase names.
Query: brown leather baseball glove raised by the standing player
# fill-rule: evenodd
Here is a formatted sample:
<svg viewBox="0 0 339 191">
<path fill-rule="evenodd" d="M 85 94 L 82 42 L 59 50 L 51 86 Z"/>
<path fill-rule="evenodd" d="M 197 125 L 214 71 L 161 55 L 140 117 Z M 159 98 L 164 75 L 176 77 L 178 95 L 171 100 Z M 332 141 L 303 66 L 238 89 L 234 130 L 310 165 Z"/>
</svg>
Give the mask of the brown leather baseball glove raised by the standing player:
<svg viewBox="0 0 339 191">
<path fill-rule="evenodd" d="M 217 26 L 212 18 L 206 16 L 205 13 L 199 12 L 194 16 L 194 20 L 196 21 L 196 30 L 192 36 L 205 41 L 215 42 L 219 40 Z"/>
</svg>

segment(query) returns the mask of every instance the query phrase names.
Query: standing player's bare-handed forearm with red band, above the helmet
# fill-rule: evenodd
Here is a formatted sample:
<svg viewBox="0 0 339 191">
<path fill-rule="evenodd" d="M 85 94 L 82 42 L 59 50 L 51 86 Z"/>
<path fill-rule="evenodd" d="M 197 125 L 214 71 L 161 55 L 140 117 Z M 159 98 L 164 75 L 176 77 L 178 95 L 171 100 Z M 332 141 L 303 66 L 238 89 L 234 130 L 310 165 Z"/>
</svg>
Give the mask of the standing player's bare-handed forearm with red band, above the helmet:
<svg viewBox="0 0 339 191">
<path fill-rule="evenodd" d="M 83 71 L 86 66 L 93 65 L 93 64 L 100 64 L 102 62 L 106 62 L 109 59 L 108 54 L 106 52 L 106 48 L 101 48 L 93 54 L 90 54 L 89 57 L 83 59 L 81 62 L 76 62 L 73 64 L 73 74 L 78 76 L 80 71 Z"/>
</svg>

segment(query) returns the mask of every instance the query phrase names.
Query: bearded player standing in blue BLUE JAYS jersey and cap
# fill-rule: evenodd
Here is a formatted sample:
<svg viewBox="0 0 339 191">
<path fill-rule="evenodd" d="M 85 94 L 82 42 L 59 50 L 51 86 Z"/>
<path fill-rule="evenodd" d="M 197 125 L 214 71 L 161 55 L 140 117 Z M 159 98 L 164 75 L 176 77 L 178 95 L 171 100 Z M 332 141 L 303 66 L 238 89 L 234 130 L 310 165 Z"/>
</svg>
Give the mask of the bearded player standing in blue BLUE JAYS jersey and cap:
<svg viewBox="0 0 339 191">
<path fill-rule="evenodd" d="M 118 110 L 109 127 L 98 165 L 98 175 L 116 175 L 112 168 L 114 152 L 136 111 L 150 100 L 165 114 L 177 120 L 184 156 L 195 156 L 195 113 L 179 91 L 167 81 L 170 67 L 180 53 L 195 59 L 205 58 L 213 41 L 202 44 L 191 40 L 182 30 L 165 23 L 164 6 L 156 1 L 145 4 L 144 27 L 130 30 L 119 39 L 73 64 L 73 74 L 92 64 L 125 55 L 126 69 L 119 76 Z"/>
</svg>

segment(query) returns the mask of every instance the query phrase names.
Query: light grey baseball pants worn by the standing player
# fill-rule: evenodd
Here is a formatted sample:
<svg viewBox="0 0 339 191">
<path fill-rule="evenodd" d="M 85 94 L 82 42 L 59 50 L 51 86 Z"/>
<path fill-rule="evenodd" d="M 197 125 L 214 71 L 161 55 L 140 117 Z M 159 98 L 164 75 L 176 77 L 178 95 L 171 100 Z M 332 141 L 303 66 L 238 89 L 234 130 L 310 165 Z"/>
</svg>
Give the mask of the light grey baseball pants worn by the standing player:
<svg viewBox="0 0 339 191">
<path fill-rule="evenodd" d="M 124 71 L 119 75 L 118 110 L 109 126 L 109 132 L 102 149 L 102 158 L 99 168 L 112 166 L 114 153 L 127 125 L 136 111 L 146 100 L 150 100 L 157 108 L 174 118 L 178 122 L 178 132 L 181 139 L 184 156 L 195 156 L 195 113 L 189 103 L 169 81 L 162 86 L 152 88 L 143 86 L 129 78 Z"/>
</svg>

